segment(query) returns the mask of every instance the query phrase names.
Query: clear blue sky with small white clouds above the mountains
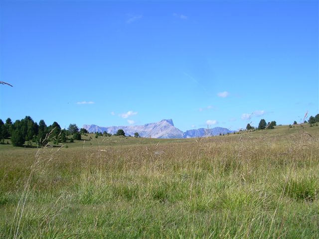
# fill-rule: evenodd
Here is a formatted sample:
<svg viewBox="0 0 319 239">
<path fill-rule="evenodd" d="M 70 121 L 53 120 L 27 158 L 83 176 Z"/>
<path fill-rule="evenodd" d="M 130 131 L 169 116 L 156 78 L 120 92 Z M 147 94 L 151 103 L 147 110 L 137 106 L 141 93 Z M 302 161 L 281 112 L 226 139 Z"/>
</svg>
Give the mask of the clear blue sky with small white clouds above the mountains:
<svg viewBox="0 0 319 239">
<path fill-rule="evenodd" d="M 181 130 L 319 112 L 319 1 L 0 1 L 0 119 Z"/>
</svg>

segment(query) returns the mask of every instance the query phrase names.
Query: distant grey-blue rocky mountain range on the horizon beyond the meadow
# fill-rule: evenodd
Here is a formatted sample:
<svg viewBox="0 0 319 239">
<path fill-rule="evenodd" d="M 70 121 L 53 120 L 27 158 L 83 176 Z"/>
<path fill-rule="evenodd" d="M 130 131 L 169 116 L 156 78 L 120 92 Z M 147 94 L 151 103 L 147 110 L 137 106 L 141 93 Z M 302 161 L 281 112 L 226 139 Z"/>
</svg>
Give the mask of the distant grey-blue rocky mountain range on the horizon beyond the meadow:
<svg viewBox="0 0 319 239">
<path fill-rule="evenodd" d="M 83 128 L 89 132 L 108 132 L 111 134 L 117 133 L 119 129 L 123 129 L 125 135 L 134 135 L 138 132 L 141 137 L 152 138 L 194 138 L 194 137 L 208 137 L 219 134 L 227 134 L 234 132 L 228 128 L 214 127 L 214 128 L 198 128 L 191 129 L 185 132 L 179 130 L 174 126 L 172 119 L 163 119 L 155 123 L 147 123 L 144 125 L 130 125 L 130 126 L 110 126 L 102 127 L 95 124 L 84 124 Z"/>
</svg>

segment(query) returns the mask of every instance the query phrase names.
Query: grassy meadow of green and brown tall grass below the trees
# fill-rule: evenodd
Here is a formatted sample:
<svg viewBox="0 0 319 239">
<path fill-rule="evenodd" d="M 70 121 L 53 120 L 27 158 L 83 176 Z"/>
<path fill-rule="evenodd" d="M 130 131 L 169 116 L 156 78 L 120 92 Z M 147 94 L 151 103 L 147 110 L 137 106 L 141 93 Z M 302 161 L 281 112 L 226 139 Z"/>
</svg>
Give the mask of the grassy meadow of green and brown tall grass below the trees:
<svg viewBox="0 0 319 239">
<path fill-rule="evenodd" d="M 89 136 L 0 145 L 0 238 L 319 238 L 319 126 Z"/>
</svg>

